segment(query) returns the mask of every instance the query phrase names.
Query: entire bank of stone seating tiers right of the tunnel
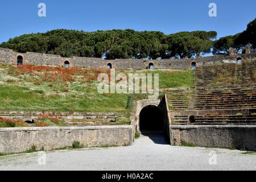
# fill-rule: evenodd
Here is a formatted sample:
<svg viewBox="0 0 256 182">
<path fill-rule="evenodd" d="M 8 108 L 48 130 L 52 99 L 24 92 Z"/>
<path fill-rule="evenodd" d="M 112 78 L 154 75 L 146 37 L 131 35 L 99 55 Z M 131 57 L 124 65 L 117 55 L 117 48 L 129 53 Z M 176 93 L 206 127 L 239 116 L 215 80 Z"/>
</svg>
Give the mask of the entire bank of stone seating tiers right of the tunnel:
<svg viewBox="0 0 256 182">
<path fill-rule="evenodd" d="M 172 125 L 255 125 L 256 61 L 197 67 L 195 92 L 174 89 L 166 96 L 169 110 L 177 111 L 171 114 Z M 235 109 L 250 109 L 250 113 L 233 113 Z M 212 113 L 193 116 L 182 112 L 188 110 Z M 216 114 L 216 110 L 230 113 Z"/>
</svg>

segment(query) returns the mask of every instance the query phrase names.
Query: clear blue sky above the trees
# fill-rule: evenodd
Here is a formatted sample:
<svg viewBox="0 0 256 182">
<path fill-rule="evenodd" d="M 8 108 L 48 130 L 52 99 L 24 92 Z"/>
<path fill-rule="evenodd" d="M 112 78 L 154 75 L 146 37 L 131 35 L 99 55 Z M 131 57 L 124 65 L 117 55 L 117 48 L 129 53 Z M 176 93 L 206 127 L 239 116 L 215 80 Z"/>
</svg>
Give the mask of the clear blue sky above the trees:
<svg viewBox="0 0 256 182">
<path fill-rule="evenodd" d="M 38 16 L 46 3 L 47 17 Z M 209 17 L 209 3 L 217 4 L 217 17 Z M 23 0 L 1 1 L 0 43 L 22 34 L 56 28 L 96 31 L 131 28 L 165 34 L 215 30 L 218 38 L 246 29 L 256 18 L 255 0 Z"/>
</svg>

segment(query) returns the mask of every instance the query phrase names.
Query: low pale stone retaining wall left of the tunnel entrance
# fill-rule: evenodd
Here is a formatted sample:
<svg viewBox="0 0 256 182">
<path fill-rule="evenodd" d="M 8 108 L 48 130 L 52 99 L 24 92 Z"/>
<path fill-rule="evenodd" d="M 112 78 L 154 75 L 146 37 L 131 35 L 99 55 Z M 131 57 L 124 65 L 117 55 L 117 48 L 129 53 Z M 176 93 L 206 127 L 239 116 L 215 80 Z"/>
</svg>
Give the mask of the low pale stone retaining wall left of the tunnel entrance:
<svg viewBox="0 0 256 182">
<path fill-rule="evenodd" d="M 0 153 L 23 152 L 33 145 L 46 150 L 72 146 L 130 146 L 132 126 L 24 127 L 0 129 Z"/>
</svg>

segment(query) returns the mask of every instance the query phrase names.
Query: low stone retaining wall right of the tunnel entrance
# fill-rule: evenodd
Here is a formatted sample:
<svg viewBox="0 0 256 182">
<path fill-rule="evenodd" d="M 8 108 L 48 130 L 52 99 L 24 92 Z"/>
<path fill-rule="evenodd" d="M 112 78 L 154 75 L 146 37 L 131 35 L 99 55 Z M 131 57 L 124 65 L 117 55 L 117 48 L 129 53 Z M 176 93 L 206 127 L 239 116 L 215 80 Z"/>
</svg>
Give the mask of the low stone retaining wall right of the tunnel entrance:
<svg viewBox="0 0 256 182">
<path fill-rule="evenodd" d="M 171 144 L 193 143 L 200 147 L 220 147 L 256 151 L 256 126 L 207 125 L 170 126 Z"/>
</svg>

